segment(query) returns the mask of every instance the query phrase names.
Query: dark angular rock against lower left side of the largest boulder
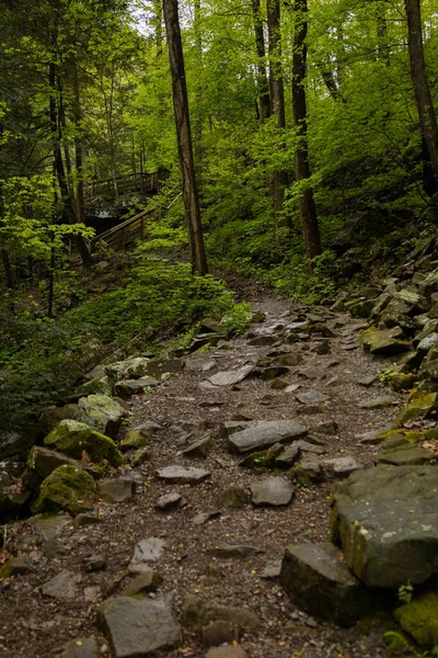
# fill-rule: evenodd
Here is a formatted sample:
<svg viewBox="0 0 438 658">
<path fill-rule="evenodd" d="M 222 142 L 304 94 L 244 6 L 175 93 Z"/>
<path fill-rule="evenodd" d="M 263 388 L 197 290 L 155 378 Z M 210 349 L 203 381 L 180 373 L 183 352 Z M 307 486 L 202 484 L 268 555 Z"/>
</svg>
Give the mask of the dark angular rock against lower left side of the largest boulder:
<svg viewBox="0 0 438 658">
<path fill-rule="evenodd" d="M 287 546 L 280 583 L 300 608 L 341 626 L 351 626 L 371 611 L 367 588 L 333 544 Z"/>
</svg>

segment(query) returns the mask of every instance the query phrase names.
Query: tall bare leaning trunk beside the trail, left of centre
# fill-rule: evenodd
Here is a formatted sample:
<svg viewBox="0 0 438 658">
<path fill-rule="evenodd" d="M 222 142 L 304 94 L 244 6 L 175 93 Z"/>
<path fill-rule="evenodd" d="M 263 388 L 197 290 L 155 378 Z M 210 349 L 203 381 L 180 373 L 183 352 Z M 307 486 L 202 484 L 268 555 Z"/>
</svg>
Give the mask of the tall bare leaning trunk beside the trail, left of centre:
<svg viewBox="0 0 438 658">
<path fill-rule="evenodd" d="M 188 226 L 188 245 L 192 266 L 195 273 L 207 274 L 207 257 L 204 248 L 195 162 L 193 158 L 187 86 L 185 81 L 177 0 L 163 0 L 163 13 L 172 72 L 173 107 L 175 111 L 176 138 L 183 182 L 184 206 Z"/>
</svg>

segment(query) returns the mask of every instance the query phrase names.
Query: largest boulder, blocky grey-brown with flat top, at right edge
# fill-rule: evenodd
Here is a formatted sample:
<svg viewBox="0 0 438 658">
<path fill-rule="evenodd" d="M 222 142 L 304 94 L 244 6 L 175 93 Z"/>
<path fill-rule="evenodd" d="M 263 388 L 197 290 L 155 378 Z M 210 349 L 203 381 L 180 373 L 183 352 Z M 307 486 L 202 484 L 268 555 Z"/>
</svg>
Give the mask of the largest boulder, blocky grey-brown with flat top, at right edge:
<svg viewBox="0 0 438 658">
<path fill-rule="evenodd" d="M 438 468 L 379 465 L 335 486 L 332 537 L 369 587 L 399 588 L 438 572 Z"/>
</svg>

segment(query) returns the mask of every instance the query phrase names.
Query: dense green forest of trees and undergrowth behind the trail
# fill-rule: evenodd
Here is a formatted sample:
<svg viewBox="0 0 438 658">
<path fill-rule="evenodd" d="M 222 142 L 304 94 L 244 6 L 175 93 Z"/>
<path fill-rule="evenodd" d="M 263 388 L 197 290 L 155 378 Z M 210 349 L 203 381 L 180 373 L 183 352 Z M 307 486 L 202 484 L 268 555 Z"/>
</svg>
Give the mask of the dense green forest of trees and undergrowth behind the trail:
<svg viewBox="0 0 438 658">
<path fill-rule="evenodd" d="M 206 315 L 238 330 L 246 309 L 186 262 L 161 2 L 0 11 L 0 413 L 16 423 L 93 349 L 146 327 L 184 342 Z M 210 272 L 330 300 L 430 232 L 434 0 L 184 0 L 178 13 Z M 143 209 L 135 254 L 92 251 Z"/>
</svg>

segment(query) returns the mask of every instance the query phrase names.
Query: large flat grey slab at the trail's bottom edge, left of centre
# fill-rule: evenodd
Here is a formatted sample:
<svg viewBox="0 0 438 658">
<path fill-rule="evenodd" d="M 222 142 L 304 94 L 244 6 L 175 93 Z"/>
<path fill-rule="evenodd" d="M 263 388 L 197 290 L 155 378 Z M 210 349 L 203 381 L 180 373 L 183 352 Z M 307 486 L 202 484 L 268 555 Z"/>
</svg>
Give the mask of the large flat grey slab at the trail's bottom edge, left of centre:
<svg viewBox="0 0 438 658">
<path fill-rule="evenodd" d="M 97 625 L 114 658 L 152 656 L 182 642 L 181 626 L 165 600 L 108 599 L 97 609 Z"/>
</svg>

